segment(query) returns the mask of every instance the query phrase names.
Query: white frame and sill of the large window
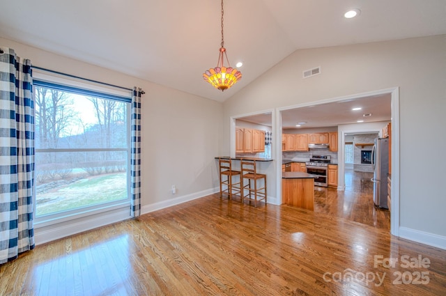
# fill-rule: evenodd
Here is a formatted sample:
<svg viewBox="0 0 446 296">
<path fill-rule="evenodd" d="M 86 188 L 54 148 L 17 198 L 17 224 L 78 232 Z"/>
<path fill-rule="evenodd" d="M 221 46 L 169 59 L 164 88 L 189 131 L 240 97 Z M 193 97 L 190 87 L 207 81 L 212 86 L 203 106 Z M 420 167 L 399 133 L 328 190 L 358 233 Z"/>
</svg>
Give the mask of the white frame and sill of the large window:
<svg viewBox="0 0 446 296">
<path fill-rule="evenodd" d="M 84 208 L 77 208 L 74 210 L 67 210 L 64 212 L 57 212 L 50 215 L 43 215 L 36 217 L 36 202 L 33 203 L 34 212 L 34 228 L 36 229 L 36 244 L 54 240 L 66 235 L 82 232 L 91 228 L 121 221 L 130 217 L 130 159 L 131 159 L 131 98 L 132 92 L 122 89 L 114 88 L 112 86 L 103 86 L 92 81 L 83 81 L 82 78 L 76 79 L 73 77 L 64 77 L 63 75 L 55 73 L 47 73 L 45 71 L 33 69 L 33 81 L 35 86 L 42 86 L 43 83 L 48 83 L 53 86 L 63 86 L 67 92 L 72 91 L 80 94 L 101 94 L 98 98 L 115 99 L 121 102 L 128 103 L 127 108 L 127 143 L 126 148 L 84 148 L 84 149 L 35 149 L 35 157 L 38 153 L 57 153 L 57 152 L 95 152 L 95 151 L 126 151 L 127 152 L 127 198 L 118 201 L 110 201 L 107 203 L 100 203 L 98 205 L 90 205 Z M 51 86 L 48 86 L 51 87 Z M 120 100 L 121 98 L 121 100 Z M 34 190 L 33 199 L 36 201 L 36 190 Z M 95 222 L 92 222 L 95 221 Z M 72 224 L 71 226 L 67 226 Z M 79 227 L 84 224 L 86 227 Z M 55 226 L 55 227 L 54 227 Z M 59 228 L 59 231 L 58 231 Z M 49 233 L 48 237 L 39 237 L 38 233 Z M 60 230 L 62 229 L 62 232 Z M 54 233 L 55 231 L 55 233 Z M 51 234 L 54 233 L 54 234 Z"/>
</svg>

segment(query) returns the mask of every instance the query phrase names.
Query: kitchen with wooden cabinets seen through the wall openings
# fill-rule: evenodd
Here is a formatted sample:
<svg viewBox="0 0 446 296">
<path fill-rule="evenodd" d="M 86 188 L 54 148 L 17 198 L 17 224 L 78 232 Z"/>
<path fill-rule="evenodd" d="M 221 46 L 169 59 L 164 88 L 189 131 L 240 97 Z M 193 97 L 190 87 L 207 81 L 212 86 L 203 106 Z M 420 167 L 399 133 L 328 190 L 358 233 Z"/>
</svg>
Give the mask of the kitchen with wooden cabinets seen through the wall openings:
<svg viewBox="0 0 446 296">
<path fill-rule="evenodd" d="M 360 106 L 362 108 L 358 108 Z M 281 116 L 282 137 L 275 137 L 273 134 L 275 129 L 272 128 L 271 114 L 244 116 L 234 122 L 236 157 L 266 157 L 281 161 L 279 164 L 268 162 L 268 168 L 264 170 L 268 171 L 269 188 L 279 187 L 279 180 L 282 180 L 282 190 L 277 191 L 282 196 L 277 198 L 277 204 L 305 208 L 306 206 L 302 206 L 305 199 L 296 201 L 286 194 L 302 195 L 302 188 L 309 187 L 309 182 L 312 182 L 311 191 L 314 192 L 314 197 L 311 198 L 314 198 L 315 211 L 339 217 L 353 217 L 354 221 L 369 218 L 384 221 L 390 217 L 391 124 L 388 95 L 289 109 L 282 111 Z M 252 130 L 249 131 L 250 129 Z M 259 131 L 263 132 L 263 136 L 257 136 L 257 140 L 251 137 L 251 134 L 259 134 Z M 245 146 L 264 145 L 264 150 L 263 147 L 256 153 L 253 149 L 243 150 L 238 140 L 242 139 L 241 135 L 246 134 L 254 143 L 244 143 Z M 258 141 L 262 137 L 265 139 L 264 143 Z M 389 139 L 388 173 L 379 178 L 374 176 L 376 138 Z M 275 143 L 272 139 L 280 139 L 281 142 Z M 278 153 L 281 153 L 281 158 L 277 157 Z M 270 171 L 272 167 L 279 169 L 280 166 L 281 176 Z M 286 189 L 285 182 L 291 182 L 291 178 L 309 179 L 309 176 L 312 177 L 311 181 L 298 181 L 308 183 L 300 189 Z M 384 186 L 385 192 L 381 190 Z M 275 190 L 270 192 L 274 194 Z M 380 194 L 380 202 L 376 192 L 383 192 Z M 274 201 L 275 197 L 270 199 Z M 367 214 L 375 212 L 377 214 L 374 217 Z M 381 225 L 380 221 L 374 223 Z"/>
</svg>

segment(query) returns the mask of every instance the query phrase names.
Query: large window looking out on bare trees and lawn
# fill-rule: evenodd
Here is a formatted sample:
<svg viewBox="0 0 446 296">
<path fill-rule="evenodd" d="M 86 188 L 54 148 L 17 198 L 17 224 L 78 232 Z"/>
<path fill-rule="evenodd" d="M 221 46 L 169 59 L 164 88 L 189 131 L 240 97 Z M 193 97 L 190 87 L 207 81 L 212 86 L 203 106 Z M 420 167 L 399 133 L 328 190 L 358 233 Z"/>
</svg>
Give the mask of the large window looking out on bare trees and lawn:
<svg viewBox="0 0 446 296">
<path fill-rule="evenodd" d="M 36 79 L 36 217 L 129 200 L 130 98 Z"/>
</svg>

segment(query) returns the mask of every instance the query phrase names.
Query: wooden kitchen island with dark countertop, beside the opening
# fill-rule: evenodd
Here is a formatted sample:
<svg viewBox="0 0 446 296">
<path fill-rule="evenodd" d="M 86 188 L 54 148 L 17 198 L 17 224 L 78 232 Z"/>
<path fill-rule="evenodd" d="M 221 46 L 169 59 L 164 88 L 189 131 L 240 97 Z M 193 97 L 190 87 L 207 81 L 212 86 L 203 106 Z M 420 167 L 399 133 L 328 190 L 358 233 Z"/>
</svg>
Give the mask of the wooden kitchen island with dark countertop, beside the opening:
<svg viewBox="0 0 446 296">
<path fill-rule="evenodd" d="M 314 210 L 314 178 L 300 171 L 282 173 L 282 203 Z"/>
</svg>

